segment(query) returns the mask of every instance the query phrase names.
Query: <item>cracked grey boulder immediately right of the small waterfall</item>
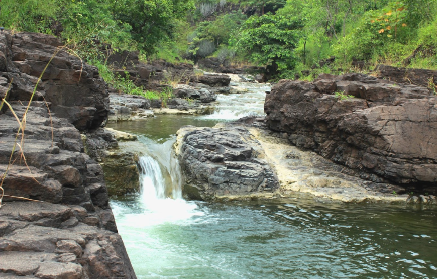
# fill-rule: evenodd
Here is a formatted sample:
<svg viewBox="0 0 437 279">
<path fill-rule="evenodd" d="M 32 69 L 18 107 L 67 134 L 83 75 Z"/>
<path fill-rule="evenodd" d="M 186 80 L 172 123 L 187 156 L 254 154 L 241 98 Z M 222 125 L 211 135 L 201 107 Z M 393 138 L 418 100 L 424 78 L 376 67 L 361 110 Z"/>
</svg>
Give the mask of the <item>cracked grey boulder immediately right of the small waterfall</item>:
<svg viewBox="0 0 437 279">
<path fill-rule="evenodd" d="M 244 130 L 238 131 L 248 136 Z M 182 127 L 175 144 L 189 199 L 271 197 L 279 183 L 271 167 L 233 129 Z"/>
</svg>

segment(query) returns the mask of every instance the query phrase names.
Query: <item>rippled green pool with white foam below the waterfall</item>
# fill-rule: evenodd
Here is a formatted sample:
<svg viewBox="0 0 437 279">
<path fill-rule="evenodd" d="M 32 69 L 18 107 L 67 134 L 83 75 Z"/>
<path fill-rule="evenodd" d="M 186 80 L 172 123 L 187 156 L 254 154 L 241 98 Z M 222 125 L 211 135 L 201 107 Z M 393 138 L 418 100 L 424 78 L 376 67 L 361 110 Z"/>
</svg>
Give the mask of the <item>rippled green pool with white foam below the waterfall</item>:
<svg viewBox="0 0 437 279">
<path fill-rule="evenodd" d="M 435 209 L 321 204 L 113 201 L 139 278 L 436 278 Z"/>
</svg>

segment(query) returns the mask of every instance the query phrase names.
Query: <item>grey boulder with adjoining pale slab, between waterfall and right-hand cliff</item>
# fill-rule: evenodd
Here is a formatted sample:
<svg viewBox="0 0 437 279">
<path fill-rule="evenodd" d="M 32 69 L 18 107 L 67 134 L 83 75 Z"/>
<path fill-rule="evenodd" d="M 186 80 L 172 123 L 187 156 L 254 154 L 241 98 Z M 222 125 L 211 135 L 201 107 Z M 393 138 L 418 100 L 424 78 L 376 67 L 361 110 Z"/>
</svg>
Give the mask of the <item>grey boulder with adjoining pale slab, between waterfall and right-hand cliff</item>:
<svg viewBox="0 0 437 279">
<path fill-rule="evenodd" d="M 433 195 L 399 194 L 405 192 L 399 185 L 362 179 L 359 171 L 290 145 L 268 129 L 264 118 L 213 128 L 182 127 L 174 148 L 188 199 L 242 200 L 301 192 L 346 203 L 437 203 Z"/>
</svg>

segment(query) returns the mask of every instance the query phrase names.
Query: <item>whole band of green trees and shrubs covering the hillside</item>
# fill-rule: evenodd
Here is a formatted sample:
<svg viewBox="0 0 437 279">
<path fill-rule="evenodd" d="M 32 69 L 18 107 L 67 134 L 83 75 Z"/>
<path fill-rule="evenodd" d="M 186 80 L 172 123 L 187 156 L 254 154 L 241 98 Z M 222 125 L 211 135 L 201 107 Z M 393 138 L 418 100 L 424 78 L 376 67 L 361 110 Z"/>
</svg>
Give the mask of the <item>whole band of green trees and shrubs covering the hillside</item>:
<svg viewBox="0 0 437 279">
<path fill-rule="evenodd" d="M 277 78 L 377 63 L 437 69 L 435 0 L 3 0 L 1 8 L 5 28 L 59 36 L 100 63 L 110 49 L 138 50 L 144 61 L 252 63 Z"/>
</svg>

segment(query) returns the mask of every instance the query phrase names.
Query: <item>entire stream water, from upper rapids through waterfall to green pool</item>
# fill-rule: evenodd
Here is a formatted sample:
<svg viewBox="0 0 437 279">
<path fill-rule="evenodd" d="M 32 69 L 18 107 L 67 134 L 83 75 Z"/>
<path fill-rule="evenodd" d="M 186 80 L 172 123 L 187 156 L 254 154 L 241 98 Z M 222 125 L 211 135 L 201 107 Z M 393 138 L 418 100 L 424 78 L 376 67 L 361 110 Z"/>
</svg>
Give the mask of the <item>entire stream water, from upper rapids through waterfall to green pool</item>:
<svg viewBox="0 0 437 279">
<path fill-rule="evenodd" d="M 296 193 L 271 200 L 182 199 L 172 145 L 184 125 L 212 127 L 262 115 L 265 84 L 234 82 L 211 115 L 158 115 L 111 123 L 138 135 L 141 191 L 113 197 L 119 233 L 138 278 L 437 278 L 437 208 L 344 204 Z"/>
</svg>

